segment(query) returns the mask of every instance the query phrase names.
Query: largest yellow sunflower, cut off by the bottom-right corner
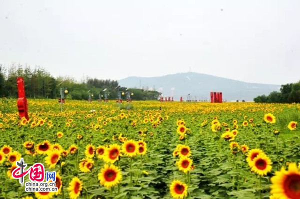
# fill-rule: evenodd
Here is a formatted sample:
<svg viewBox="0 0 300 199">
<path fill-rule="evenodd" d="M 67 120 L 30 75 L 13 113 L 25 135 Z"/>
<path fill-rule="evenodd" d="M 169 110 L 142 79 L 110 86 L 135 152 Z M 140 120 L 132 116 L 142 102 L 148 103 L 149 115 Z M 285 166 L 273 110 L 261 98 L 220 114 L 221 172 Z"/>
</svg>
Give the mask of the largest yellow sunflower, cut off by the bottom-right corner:
<svg viewBox="0 0 300 199">
<path fill-rule="evenodd" d="M 295 163 L 283 167 L 271 178 L 270 193 L 278 199 L 300 199 L 300 171 Z"/>
</svg>

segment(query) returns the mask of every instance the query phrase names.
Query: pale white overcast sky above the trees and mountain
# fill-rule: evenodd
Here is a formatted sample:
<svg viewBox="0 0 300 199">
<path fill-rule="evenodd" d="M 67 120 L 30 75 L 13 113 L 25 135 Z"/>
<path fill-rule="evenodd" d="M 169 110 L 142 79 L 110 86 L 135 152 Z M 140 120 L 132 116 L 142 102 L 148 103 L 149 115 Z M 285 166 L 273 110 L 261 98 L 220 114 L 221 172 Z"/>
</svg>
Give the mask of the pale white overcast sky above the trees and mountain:
<svg viewBox="0 0 300 199">
<path fill-rule="evenodd" d="M 0 63 L 53 76 L 300 80 L 299 0 L 0 0 Z"/>
</svg>

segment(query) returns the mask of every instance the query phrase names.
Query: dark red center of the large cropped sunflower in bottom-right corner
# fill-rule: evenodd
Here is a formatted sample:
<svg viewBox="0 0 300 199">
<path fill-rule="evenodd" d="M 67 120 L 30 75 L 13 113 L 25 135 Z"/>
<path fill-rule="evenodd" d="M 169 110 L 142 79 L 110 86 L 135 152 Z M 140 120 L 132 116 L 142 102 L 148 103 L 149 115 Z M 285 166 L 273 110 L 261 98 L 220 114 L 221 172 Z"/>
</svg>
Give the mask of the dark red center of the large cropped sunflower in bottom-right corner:
<svg viewBox="0 0 300 199">
<path fill-rule="evenodd" d="M 300 175 L 291 174 L 286 177 L 283 183 L 286 196 L 290 199 L 300 198 Z"/>
</svg>

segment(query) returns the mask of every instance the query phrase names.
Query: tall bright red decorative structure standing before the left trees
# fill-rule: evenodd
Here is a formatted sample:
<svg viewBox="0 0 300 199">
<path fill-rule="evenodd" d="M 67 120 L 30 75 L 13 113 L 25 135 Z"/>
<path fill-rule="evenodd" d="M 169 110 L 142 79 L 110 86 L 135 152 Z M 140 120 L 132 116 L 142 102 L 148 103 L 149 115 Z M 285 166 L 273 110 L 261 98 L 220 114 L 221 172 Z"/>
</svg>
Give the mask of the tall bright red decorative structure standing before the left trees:
<svg viewBox="0 0 300 199">
<path fill-rule="evenodd" d="M 27 99 L 25 96 L 25 86 L 23 77 L 16 78 L 17 85 L 17 110 L 19 112 L 20 118 L 25 117 L 26 120 L 29 120 L 28 117 L 28 107 L 27 107 Z"/>
</svg>

